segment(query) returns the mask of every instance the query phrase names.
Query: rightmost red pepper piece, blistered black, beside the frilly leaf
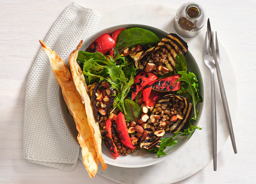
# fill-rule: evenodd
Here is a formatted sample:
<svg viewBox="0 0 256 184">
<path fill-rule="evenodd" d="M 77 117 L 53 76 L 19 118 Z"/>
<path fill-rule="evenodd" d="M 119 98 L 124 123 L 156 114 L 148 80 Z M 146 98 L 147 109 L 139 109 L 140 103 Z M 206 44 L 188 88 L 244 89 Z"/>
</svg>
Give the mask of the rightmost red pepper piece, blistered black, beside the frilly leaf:
<svg viewBox="0 0 256 184">
<path fill-rule="evenodd" d="M 176 82 L 179 77 L 181 77 L 179 74 L 171 75 L 169 77 L 150 82 L 148 83 L 148 86 L 152 86 L 152 89 L 157 91 L 177 91 L 180 89 L 180 81 Z M 175 85 L 173 86 L 174 83 Z"/>
</svg>

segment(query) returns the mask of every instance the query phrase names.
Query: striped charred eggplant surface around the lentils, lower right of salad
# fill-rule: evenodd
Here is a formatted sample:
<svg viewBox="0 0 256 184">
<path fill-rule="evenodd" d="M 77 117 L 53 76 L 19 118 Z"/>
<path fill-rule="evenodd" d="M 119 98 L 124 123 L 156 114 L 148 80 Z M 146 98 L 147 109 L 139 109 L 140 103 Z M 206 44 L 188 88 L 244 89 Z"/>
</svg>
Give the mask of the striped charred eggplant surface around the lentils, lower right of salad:
<svg viewBox="0 0 256 184">
<path fill-rule="evenodd" d="M 191 114 L 192 114 L 192 110 L 193 110 L 193 106 L 191 105 L 191 103 L 189 102 L 189 100 L 183 96 L 179 96 L 179 95 L 165 95 L 161 98 L 159 98 L 157 100 L 157 102 L 155 103 L 154 108 L 152 109 L 151 115 L 150 116 L 154 116 L 154 115 L 158 115 L 159 117 L 159 122 L 162 121 L 162 114 L 161 113 L 157 113 L 155 114 L 156 109 L 158 107 L 164 106 L 165 110 L 169 110 L 171 108 L 173 108 L 173 105 L 175 105 L 175 99 L 178 99 L 179 101 L 183 102 L 183 108 L 182 108 L 182 118 L 183 119 L 177 119 L 174 121 L 171 121 L 170 125 L 169 125 L 169 131 L 171 132 L 178 132 L 178 131 L 183 131 L 186 127 L 187 124 L 189 123 L 189 120 L 191 118 Z M 178 101 L 176 100 L 176 101 Z M 161 106 L 159 106 L 159 104 Z M 176 116 L 176 115 L 174 115 Z M 171 118 L 170 118 L 171 119 Z M 144 148 L 147 150 L 150 150 L 154 147 L 159 148 L 159 145 L 161 143 L 161 139 L 162 136 L 159 136 L 157 138 L 153 138 L 154 136 L 154 129 L 152 129 L 151 127 L 154 127 L 153 122 L 151 122 L 150 119 L 148 119 L 147 121 L 147 138 L 146 139 L 140 139 L 140 148 Z"/>
</svg>

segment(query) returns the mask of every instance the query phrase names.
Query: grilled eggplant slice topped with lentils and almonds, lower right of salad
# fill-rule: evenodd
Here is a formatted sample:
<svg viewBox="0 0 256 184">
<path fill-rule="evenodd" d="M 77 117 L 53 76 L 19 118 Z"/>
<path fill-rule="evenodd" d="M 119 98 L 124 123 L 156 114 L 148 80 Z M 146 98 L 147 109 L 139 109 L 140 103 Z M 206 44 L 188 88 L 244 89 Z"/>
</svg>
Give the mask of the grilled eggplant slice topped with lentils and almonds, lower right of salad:
<svg viewBox="0 0 256 184">
<path fill-rule="evenodd" d="M 165 132 L 183 131 L 189 123 L 193 106 L 179 95 L 165 95 L 157 100 L 147 122 L 147 138 L 141 139 L 140 148 L 159 148 Z"/>
</svg>

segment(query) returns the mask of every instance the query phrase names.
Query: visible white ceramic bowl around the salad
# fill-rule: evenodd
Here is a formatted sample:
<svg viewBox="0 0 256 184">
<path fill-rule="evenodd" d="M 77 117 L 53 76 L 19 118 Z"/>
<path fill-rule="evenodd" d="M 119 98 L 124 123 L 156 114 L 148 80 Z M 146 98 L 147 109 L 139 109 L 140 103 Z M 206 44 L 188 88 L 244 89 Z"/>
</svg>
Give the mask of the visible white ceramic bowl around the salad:
<svg viewBox="0 0 256 184">
<path fill-rule="evenodd" d="M 157 35 L 160 40 L 163 36 L 166 36 L 168 34 L 168 32 L 166 32 L 162 29 L 154 28 L 152 26 L 147 26 L 147 25 L 141 25 L 141 24 L 124 24 L 124 25 L 112 26 L 112 27 L 106 28 L 102 31 L 98 31 L 97 33 L 94 33 L 93 35 L 91 35 L 88 39 L 84 40 L 83 46 L 81 47 L 80 50 L 85 50 L 96 38 L 98 38 L 100 35 L 102 35 L 104 33 L 112 33 L 113 31 L 115 31 L 116 29 L 119 29 L 119 28 L 132 28 L 132 27 L 140 27 L 140 28 L 150 30 L 150 31 L 154 32 L 155 35 Z M 192 71 L 196 74 L 197 79 L 200 83 L 200 81 L 202 81 L 202 77 L 201 77 L 199 67 L 198 67 L 196 61 L 194 60 L 194 57 L 192 56 L 192 54 L 189 51 L 187 51 L 185 57 L 187 60 L 189 71 Z M 203 95 L 204 94 L 203 86 L 202 86 L 202 83 L 200 83 L 200 84 L 201 84 L 200 95 Z M 73 139 L 77 142 L 78 132 L 76 130 L 76 125 L 74 123 L 74 120 L 73 120 L 73 117 L 71 116 L 71 114 L 67 113 L 66 103 L 64 102 L 60 88 L 59 88 L 59 105 L 60 105 L 60 112 L 62 115 L 63 122 L 64 122 L 67 130 L 69 131 L 71 137 L 73 137 Z M 199 103 L 197 105 L 198 110 L 200 110 L 201 107 L 203 107 L 203 103 Z M 198 117 L 198 120 L 199 119 L 200 119 L 200 116 Z M 165 134 L 165 136 L 168 136 L 168 135 L 171 135 L 171 133 Z M 103 155 L 105 162 L 107 164 L 111 164 L 113 166 L 145 167 L 145 166 L 150 166 L 150 165 L 159 163 L 162 160 L 168 159 L 174 153 L 178 152 L 179 149 L 182 148 L 182 146 L 185 145 L 188 141 L 189 141 L 189 139 L 180 137 L 178 143 L 175 144 L 175 147 L 171 146 L 171 147 L 167 147 L 165 149 L 165 153 L 167 153 L 168 155 L 162 156 L 160 158 L 158 158 L 156 154 L 149 153 L 142 149 L 140 149 L 136 152 L 130 153 L 127 156 L 120 155 L 118 158 L 115 158 L 111 154 L 111 152 L 109 152 L 109 149 L 106 148 L 106 146 L 104 144 L 102 144 L 102 155 Z M 77 144 L 78 144 L 78 142 L 77 142 Z"/>
</svg>

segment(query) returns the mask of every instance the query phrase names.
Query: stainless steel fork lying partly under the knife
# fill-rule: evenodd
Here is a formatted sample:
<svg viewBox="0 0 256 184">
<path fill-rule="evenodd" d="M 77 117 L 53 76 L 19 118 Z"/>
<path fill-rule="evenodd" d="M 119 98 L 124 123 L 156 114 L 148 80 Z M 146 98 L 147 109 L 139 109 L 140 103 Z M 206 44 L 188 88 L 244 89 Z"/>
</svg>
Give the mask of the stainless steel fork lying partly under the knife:
<svg viewBox="0 0 256 184">
<path fill-rule="evenodd" d="M 208 35 L 211 40 L 211 34 Z M 207 49 L 207 32 L 204 40 L 203 58 L 204 63 L 211 72 L 211 124 L 212 124 L 212 139 L 213 139 L 213 168 L 217 170 L 217 122 L 216 122 L 216 102 L 215 102 L 215 86 L 214 86 L 214 70 L 215 63 L 213 54 L 211 53 L 210 41 Z M 217 50 L 217 49 L 216 49 Z M 218 54 L 219 56 L 219 54 Z M 218 59 L 219 60 L 219 59 Z"/>
</svg>

